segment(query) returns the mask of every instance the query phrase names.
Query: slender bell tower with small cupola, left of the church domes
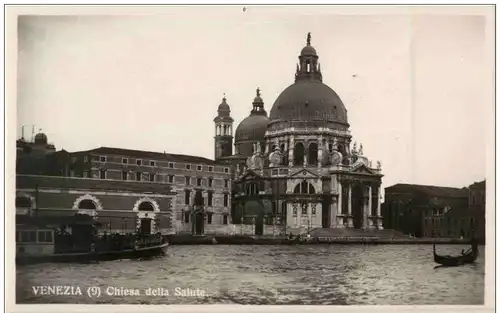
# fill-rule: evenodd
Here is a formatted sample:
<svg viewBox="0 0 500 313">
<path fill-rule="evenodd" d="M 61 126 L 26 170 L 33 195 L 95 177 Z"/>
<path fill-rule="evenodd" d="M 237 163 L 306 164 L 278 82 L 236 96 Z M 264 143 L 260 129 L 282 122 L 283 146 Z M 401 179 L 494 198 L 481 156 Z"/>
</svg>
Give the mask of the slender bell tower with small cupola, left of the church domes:
<svg viewBox="0 0 500 313">
<path fill-rule="evenodd" d="M 226 95 L 222 98 L 222 103 L 217 108 L 215 123 L 215 160 L 221 157 L 233 155 L 233 118 L 231 108 L 226 102 Z"/>
</svg>

